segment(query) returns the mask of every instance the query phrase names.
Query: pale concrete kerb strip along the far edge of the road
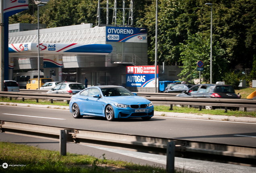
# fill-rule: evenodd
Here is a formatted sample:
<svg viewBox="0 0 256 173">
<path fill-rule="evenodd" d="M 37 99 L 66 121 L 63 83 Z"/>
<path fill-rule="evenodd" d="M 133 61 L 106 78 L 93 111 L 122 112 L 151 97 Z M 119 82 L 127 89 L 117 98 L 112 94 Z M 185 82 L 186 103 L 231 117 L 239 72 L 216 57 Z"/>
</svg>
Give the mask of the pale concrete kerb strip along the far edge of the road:
<svg viewBox="0 0 256 173">
<path fill-rule="evenodd" d="M 7 103 L 7 102 L 0 102 L 0 104 L 1 105 L 22 106 L 22 107 L 41 107 L 41 108 L 50 108 L 50 109 L 67 109 L 67 110 L 69 110 L 68 106 L 57 106 L 57 105 L 36 105 L 36 104 Z M 173 112 L 155 111 L 154 116 L 256 123 L 256 118 L 254 118 L 254 117 L 234 117 L 234 116 L 225 116 L 225 115 L 208 115 L 208 114 L 198 115 L 198 114 L 192 114 L 192 113 L 173 113 Z"/>
</svg>

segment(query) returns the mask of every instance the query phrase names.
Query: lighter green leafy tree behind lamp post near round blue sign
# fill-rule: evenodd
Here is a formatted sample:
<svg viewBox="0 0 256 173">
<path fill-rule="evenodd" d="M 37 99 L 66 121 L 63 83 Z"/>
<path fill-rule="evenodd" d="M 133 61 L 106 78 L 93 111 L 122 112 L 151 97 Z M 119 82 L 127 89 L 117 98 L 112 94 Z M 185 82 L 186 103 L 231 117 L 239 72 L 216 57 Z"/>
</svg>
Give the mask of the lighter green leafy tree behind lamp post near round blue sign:
<svg viewBox="0 0 256 173">
<path fill-rule="evenodd" d="M 184 80 L 190 78 L 199 78 L 197 71 L 197 62 L 201 60 L 204 63 L 204 71 L 202 71 L 203 81 L 209 82 L 210 79 L 210 39 L 202 36 L 202 34 L 189 34 L 185 44 L 181 44 L 181 58 L 183 70 L 179 76 L 186 76 Z M 225 51 L 216 42 L 213 45 L 212 72 L 213 82 L 222 80 L 221 76 L 227 72 L 226 59 L 223 59 Z M 221 63 L 220 63 L 221 62 Z"/>
</svg>

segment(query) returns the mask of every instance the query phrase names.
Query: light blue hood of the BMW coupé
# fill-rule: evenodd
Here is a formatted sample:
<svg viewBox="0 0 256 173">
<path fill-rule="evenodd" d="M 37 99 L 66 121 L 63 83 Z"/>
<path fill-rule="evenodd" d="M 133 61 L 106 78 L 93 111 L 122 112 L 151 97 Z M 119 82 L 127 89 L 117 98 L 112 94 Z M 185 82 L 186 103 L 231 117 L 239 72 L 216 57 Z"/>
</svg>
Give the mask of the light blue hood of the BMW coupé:
<svg viewBox="0 0 256 173">
<path fill-rule="evenodd" d="M 116 96 L 116 97 L 104 97 L 108 101 L 113 101 L 116 103 L 121 103 L 125 105 L 131 104 L 149 104 L 150 101 L 145 99 L 144 97 L 139 96 Z"/>
</svg>

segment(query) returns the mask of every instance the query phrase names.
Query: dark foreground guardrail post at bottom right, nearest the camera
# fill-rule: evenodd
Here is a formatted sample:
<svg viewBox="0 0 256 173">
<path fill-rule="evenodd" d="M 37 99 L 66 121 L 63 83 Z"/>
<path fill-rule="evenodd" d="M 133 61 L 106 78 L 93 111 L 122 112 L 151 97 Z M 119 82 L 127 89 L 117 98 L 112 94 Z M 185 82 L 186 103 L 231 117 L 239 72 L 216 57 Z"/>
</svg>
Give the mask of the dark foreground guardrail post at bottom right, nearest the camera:
<svg viewBox="0 0 256 173">
<path fill-rule="evenodd" d="M 166 172 L 174 173 L 174 158 L 175 158 L 175 142 L 171 141 L 167 144 L 167 163 Z"/>
</svg>

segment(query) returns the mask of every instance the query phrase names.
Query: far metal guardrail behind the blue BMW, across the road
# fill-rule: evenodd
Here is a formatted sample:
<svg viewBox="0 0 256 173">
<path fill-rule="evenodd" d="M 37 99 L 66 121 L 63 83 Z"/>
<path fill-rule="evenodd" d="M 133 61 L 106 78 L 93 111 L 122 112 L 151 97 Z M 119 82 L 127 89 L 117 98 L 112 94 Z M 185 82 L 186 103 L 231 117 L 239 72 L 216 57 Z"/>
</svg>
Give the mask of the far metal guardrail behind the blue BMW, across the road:
<svg viewBox="0 0 256 173">
<path fill-rule="evenodd" d="M 40 90 L 35 90 L 40 91 Z M 43 90 L 41 91 L 43 92 Z M 173 105 L 195 105 L 199 106 L 201 110 L 204 106 L 216 106 L 225 107 L 227 112 L 227 107 L 242 107 L 244 111 L 246 108 L 256 108 L 256 99 L 219 99 L 219 98 L 188 98 L 188 97 L 171 97 L 173 94 L 169 93 L 137 93 L 138 96 L 142 96 L 152 101 L 153 104 L 160 105 L 170 105 L 172 109 Z M 168 97 L 163 97 L 163 96 Z M 160 96 L 161 97 L 160 97 Z M 68 103 L 72 95 L 68 94 L 47 94 L 47 93 L 23 93 L 23 92 L 0 92 L 0 96 L 4 97 L 17 97 L 17 98 L 34 98 L 37 99 L 50 99 L 52 102 L 54 99 L 66 100 Z M 153 97 L 151 97 L 153 96 Z"/>
</svg>

